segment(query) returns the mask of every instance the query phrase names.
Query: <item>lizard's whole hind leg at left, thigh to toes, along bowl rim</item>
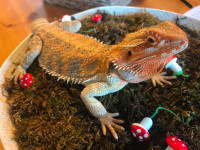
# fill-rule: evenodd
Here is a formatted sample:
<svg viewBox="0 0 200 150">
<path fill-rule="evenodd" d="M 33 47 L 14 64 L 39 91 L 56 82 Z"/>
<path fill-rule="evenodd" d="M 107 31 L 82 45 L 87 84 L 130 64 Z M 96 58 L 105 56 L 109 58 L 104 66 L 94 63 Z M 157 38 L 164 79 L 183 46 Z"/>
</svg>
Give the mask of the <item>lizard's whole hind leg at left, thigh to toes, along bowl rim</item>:
<svg viewBox="0 0 200 150">
<path fill-rule="evenodd" d="M 26 73 L 26 69 L 33 63 L 34 59 L 40 54 L 42 50 L 42 40 L 39 36 L 34 35 L 29 42 L 30 51 L 26 53 L 23 61 L 16 67 L 11 80 L 14 78 L 15 84 L 18 79 L 22 78 Z"/>
</svg>

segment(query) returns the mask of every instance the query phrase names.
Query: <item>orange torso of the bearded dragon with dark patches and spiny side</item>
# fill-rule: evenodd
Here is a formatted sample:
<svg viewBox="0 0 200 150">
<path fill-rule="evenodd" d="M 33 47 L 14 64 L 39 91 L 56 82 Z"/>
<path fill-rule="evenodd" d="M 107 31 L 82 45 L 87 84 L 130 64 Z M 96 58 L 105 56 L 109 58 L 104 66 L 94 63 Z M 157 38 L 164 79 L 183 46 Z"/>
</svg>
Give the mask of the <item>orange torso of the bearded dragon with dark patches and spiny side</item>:
<svg viewBox="0 0 200 150">
<path fill-rule="evenodd" d="M 83 83 L 107 73 L 111 46 L 95 39 L 64 31 L 45 19 L 32 24 L 34 35 L 41 37 L 43 46 L 39 64 L 58 78 Z"/>
</svg>

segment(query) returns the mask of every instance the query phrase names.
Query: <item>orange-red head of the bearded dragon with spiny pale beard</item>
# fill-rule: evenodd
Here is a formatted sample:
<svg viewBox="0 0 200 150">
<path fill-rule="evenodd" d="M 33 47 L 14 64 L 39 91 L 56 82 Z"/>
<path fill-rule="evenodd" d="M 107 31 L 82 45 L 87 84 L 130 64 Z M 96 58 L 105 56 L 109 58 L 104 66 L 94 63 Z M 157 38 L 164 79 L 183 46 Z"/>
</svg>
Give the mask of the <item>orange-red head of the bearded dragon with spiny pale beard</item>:
<svg viewBox="0 0 200 150">
<path fill-rule="evenodd" d="M 141 82 L 161 72 L 170 58 L 187 46 L 185 32 L 173 22 L 164 21 L 126 35 L 113 47 L 110 59 L 123 78 Z"/>
</svg>

